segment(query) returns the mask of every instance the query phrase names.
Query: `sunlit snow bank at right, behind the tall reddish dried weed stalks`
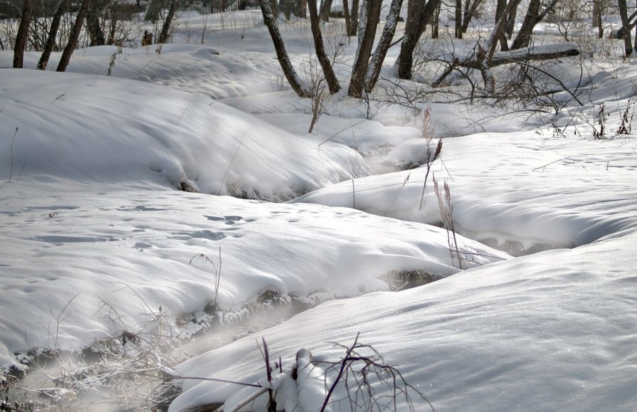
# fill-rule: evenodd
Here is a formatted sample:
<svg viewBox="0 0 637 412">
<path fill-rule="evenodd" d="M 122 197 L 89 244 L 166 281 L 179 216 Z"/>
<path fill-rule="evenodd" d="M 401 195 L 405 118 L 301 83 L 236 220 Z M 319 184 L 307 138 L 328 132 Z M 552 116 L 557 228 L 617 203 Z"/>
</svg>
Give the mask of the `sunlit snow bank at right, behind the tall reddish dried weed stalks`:
<svg viewBox="0 0 637 412">
<path fill-rule="evenodd" d="M 436 176 L 451 188 L 459 233 L 522 248 L 572 248 L 637 227 L 631 207 L 637 202 L 634 147 L 623 137 L 554 137 L 548 128 L 447 138 L 442 160 L 431 167 L 422 210 L 426 167 L 357 179 L 355 205 L 381 216 L 436 223 Z M 414 153 L 408 148 L 405 157 Z M 352 207 L 351 191 L 344 182 L 293 202 Z"/>
</svg>

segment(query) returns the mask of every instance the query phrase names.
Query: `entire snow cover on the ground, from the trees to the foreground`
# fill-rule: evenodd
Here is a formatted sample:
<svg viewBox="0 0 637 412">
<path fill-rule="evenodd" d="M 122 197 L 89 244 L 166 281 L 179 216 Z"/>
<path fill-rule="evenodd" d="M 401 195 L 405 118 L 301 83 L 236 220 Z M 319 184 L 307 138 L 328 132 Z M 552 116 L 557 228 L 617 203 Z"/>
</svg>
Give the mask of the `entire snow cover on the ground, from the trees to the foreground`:
<svg viewBox="0 0 637 412">
<path fill-rule="evenodd" d="M 424 105 L 375 106 L 367 120 L 365 105 L 342 98 L 307 134 L 307 102 L 281 90 L 265 29 L 253 14 L 233 16 L 236 27 L 212 29 L 204 45 L 196 44 L 202 20 L 191 17 L 161 53 L 104 46 L 77 51 L 73 73 L 1 70 L 5 372 L 31 349 L 81 349 L 122 328 L 139 332 L 157 312 L 186 336 L 209 302 L 238 316 L 275 291 L 306 302 L 352 299 L 177 370 L 265 384 L 256 339 L 287 374 L 299 349 L 337 361 L 343 350 L 332 342 L 347 346 L 360 333 L 437 411 L 637 408 L 637 144 L 615 133 L 633 98 L 635 63 L 594 71 L 583 106 L 527 122 L 520 113 L 431 105 L 443 151 L 423 188 L 425 167 L 374 172 L 422 163 Z M 284 30 L 298 67 L 306 29 Z M 0 66 L 11 58 L 0 52 Z M 38 58 L 28 53 L 26 67 Z M 342 80 L 346 61 L 337 65 Z M 602 102 L 609 138 L 598 140 Z M 448 233 L 432 226 L 440 224 L 434 175 L 451 189 L 463 270 Z M 201 193 L 178 191 L 182 183 Z M 228 194 L 248 199 L 217 196 Z M 554 250 L 512 258 L 478 241 L 513 255 Z M 217 268 L 221 253 L 218 296 L 213 265 L 191 262 L 199 253 Z M 411 270 L 444 279 L 390 292 L 384 276 Z M 312 374 L 298 383 L 281 374 L 280 404 L 312 410 L 312 396 L 326 390 Z M 233 384 L 182 386 L 173 411 L 246 396 Z M 337 390 L 333 399 L 342 397 Z M 428 408 L 412 399 L 416 410 Z"/>
</svg>

